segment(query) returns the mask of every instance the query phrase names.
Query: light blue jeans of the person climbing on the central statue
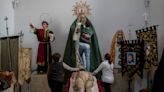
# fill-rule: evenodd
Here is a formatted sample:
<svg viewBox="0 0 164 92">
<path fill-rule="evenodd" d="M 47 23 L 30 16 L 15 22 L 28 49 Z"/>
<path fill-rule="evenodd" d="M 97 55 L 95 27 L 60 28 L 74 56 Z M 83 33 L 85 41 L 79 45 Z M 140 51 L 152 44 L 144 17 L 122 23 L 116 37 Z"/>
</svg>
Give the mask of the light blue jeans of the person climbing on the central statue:
<svg viewBox="0 0 164 92">
<path fill-rule="evenodd" d="M 86 61 L 86 65 L 84 65 L 84 68 L 87 71 L 90 71 L 90 45 L 87 43 L 80 42 L 79 43 L 79 53 L 82 58 L 81 62 L 84 65 L 84 61 Z M 83 54 L 85 53 L 85 60 L 83 58 Z"/>
</svg>

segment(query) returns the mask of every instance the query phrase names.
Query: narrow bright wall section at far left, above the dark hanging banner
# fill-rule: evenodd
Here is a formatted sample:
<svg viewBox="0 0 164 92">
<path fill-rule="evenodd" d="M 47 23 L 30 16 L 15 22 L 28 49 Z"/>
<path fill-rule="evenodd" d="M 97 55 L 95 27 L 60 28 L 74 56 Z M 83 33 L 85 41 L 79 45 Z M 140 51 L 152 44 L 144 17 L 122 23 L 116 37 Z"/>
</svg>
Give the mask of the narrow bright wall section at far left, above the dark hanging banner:
<svg viewBox="0 0 164 92">
<path fill-rule="evenodd" d="M 14 35 L 14 9 L 12 0 L 0 0 L 0 36 L 6 36 L 6 21 L 8 17 L 9 35 Z"/>
</svg>

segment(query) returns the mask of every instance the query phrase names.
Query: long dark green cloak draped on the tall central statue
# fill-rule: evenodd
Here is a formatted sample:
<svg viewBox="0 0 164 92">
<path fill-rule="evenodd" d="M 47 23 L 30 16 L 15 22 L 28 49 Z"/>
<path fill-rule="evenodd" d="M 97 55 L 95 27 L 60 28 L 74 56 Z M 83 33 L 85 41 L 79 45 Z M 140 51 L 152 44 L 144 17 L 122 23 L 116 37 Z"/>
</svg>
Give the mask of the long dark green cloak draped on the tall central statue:
<svg viewBox="0 0 164 92">
<path fill-rule="evenodd" d="M 63 61 L 71 67 L 76 66 L 75 42 L 73 41 L 73 34 L 74 34 L 74 31 L 76 28 L 76 21 L 77 21 L 77 19 L 71 25 L 65 52 L 64 52 L 64 58 L 63 58 Z M 87 18 L 87 21 L 89 21 L 88 18 Z M 93 35 L 91 37 L 91 43 L 90 43 L 90 51 L 91 51 L 91 53 L 90 53 L 90 70 L 92 72 L 102 62 L 102 58 L 101 58 L 101 54 L 100 54 L 100 50 L 99 50 L 96 32 L 95 32 L 92 24 L 91 24 L 90 28 L 93 30 Z M 66 79 L 70 77 L 70 74 L 71 73 L 69 71 L 66 71 Z"/>
</svg>

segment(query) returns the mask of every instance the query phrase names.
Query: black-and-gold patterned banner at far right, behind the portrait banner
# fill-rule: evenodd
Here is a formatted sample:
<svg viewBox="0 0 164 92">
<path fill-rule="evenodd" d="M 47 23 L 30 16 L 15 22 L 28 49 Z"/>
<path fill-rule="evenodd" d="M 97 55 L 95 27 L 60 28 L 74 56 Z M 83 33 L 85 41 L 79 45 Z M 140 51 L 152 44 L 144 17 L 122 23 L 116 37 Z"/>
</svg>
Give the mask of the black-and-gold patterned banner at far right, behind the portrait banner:
<svg viewBox="0 0 164 92">
<path fill-rule="evenodd" d="M 146 27 L 136 31 L 137 39 L 144 40 L 144 68 L 151 68 L 158 64 L 158 49 L 157 49 L 157 25 Z"/>
</svg>

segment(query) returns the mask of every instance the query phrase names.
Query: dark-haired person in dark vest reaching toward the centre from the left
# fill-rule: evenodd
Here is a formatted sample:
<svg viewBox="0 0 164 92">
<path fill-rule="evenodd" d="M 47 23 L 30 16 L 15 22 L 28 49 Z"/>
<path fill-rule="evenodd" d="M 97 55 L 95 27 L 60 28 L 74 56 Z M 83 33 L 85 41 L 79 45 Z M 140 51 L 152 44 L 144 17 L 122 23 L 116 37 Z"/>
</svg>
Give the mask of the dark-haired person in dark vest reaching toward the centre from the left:
<svg viewBox="0 0 164 92">
<path fill-rule="evenodd" d="M 72 68 L 60 61 L 61 55 L 55 53 L 52 56 L 52 63 L 49 65 L 47 78 L 51 92 L 62 92 L 64 83 L 64 69 L 69 71 L 78 71 L 79 68 Z"/>
</svg>

